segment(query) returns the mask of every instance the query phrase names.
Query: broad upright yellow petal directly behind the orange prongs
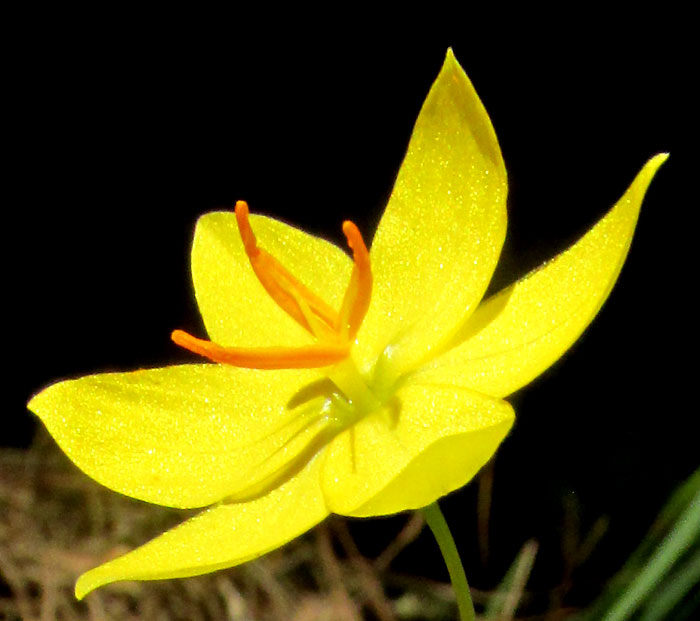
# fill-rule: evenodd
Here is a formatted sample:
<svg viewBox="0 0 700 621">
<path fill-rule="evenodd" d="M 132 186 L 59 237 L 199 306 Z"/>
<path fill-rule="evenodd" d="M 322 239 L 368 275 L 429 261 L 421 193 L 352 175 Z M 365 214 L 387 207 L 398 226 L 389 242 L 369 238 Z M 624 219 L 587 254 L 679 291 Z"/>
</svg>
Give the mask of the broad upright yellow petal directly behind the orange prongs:
<svg viewBox="0 0 700 621">
<path fill-rule="evenodd" d="M 333 308 L 352 261 L 337 246 L 283 222 L 251 216 L 260 247 Z M 270 298 L 250 266 L 233 212 L 202 216 L 192 246 L 192 278 L 211 340 L 228 347 L 307 345 L 311 337 Z"/>
</svg>

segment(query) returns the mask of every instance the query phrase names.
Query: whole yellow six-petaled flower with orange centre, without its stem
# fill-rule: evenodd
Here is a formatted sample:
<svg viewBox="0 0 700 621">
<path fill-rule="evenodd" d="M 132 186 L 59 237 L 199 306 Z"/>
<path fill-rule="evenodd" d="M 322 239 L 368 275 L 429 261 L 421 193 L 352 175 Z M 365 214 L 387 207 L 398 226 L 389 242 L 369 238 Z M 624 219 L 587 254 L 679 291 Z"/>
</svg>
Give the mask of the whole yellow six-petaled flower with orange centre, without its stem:
<svg viewBox="0 0 700 621">
<path fill-rule="evenodd" d="M 353 260 L 242 202 L 203 216 L 192 274 L 211 342 L 173 339 L 218 364 L 84 377 L 29 404 L 103 485 L 209 507 L 87 572 L 76 595 L 230 567 L 329 513 L 417 509 L 466 484 L 512 425 L 503 397 L 603 304 L 665 158 L 573 247 L 481 302 L 505 236 L 506 171 L 448 51 L 371 253 L 349 222 Z"/>
</svg>

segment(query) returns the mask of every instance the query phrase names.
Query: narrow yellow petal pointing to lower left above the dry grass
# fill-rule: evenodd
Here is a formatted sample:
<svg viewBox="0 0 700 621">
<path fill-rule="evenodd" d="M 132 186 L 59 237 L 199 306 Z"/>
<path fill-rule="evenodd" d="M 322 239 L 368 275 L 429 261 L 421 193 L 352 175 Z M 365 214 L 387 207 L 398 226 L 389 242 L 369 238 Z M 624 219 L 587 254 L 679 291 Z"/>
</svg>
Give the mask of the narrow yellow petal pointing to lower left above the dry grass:
<svg viewBox="0 0 700 621">
<path fill-rule="evenodd" d="M 124 556 L 83 574 L 78 599 L 120 580 L 182 578 L 233 567 L 284 545 L 327 515 L 319 459 L 267 496 L 221 504 Z"/>
</svg>

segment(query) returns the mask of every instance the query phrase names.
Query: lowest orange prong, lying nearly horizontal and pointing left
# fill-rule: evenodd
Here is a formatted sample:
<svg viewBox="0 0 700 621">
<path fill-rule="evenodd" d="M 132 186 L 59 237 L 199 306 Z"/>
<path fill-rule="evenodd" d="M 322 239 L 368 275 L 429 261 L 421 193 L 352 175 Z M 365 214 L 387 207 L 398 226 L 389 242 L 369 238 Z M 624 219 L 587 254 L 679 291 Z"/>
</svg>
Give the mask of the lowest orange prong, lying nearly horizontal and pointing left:
<svg viewBox="0 0 700 621">
<path fill-rule="evenodd" d="M 246 369 L 310 369 L 340 362 L 348 355 L 347 345 L 314 343 L 302 347 L 222 347 L 174 330 L 172 340 L 192 353 L 213 362 Z"/>
</svg>

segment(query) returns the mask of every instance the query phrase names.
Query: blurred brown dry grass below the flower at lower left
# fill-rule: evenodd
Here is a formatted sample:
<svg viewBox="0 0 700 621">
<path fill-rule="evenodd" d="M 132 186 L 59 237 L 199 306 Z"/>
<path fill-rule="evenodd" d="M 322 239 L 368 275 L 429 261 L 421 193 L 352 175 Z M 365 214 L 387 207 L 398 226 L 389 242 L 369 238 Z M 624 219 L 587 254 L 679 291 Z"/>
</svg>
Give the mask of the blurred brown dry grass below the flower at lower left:
<svg viewBox="0 0 700 621">
<path fill-rule="evenodd" d="M 73 596 L 76 577 L 183 520 L 183 512 L 115 494 L 81 474 L 45 435 L 0 452 L 0 619 L 446 619 L 449 585 L 391 573 L 419 516 L 375 559 L 330 519 L 282 550 L 228 571 L 128 582 Z M 117 547 L 115 542 L 118 542 Z M 385 585 L 393 585 L 390 599 Z"/>
</svg>

